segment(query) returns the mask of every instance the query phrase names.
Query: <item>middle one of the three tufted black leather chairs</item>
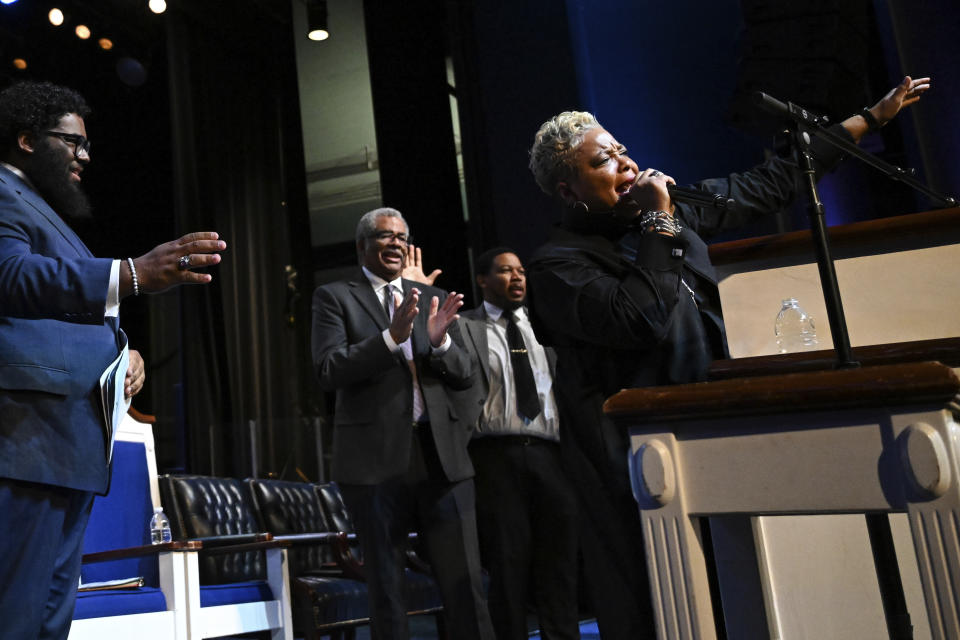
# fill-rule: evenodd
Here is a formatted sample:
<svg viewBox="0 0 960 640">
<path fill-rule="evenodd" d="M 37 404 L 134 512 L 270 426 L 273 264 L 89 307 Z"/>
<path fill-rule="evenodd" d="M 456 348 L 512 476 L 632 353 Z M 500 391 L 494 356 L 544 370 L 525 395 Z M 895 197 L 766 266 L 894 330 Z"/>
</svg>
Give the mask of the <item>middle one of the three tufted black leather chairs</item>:
<svg viewBox="0 0 960 640">
<path fill-rule="evenodd" d="M 346 565 L 346 534 L 336 533 L 313 487 L 303 482 L 248 479 L 260 528 L 289 540 L 293 626 L 298 636 L 352 640 L 370 621 L 367 585 Z"/>
</svg>

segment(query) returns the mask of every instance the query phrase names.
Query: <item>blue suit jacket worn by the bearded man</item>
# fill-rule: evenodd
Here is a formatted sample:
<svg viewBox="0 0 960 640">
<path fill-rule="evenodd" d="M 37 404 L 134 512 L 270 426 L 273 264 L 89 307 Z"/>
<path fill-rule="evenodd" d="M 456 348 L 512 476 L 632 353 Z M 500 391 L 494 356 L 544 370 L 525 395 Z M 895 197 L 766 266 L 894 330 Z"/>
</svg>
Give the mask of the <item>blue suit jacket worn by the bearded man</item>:
<svg viewBox="0 0 960 640">
<path fill-rule="evenodd" d="M 0 477 L 106 490 L 99 379 L 119 353 L 117 318 L 104 317 L 111 264 L 0 166 Z"/>
</svg>

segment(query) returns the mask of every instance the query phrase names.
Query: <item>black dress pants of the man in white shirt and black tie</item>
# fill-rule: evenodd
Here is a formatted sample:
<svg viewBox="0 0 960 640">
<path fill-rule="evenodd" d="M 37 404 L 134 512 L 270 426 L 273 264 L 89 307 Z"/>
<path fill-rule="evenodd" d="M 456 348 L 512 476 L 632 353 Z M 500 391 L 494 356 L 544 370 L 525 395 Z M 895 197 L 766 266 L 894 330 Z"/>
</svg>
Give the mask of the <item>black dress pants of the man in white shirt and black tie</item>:
<svg viewBox="0 0 960 640">
<path fill-rule="evenodd" d="M 470 456 L 498 640 L 528 637 L 531 602 L 544 640 L 576 640 L 577 501 L 559 445 L 527 436 L 484 436 L 470 444 Z"/>
</svg>

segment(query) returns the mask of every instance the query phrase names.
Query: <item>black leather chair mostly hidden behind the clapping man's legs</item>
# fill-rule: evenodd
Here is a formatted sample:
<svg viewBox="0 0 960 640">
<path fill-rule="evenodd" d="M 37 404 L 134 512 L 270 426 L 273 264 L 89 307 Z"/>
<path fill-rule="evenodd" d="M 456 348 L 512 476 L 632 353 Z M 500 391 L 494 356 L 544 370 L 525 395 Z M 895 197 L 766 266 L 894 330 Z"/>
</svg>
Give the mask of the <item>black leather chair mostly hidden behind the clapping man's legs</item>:
<svg viewBox="0 0 960 640">
<path fill-rule="evenodd" d="M 337 484 L 335 482 L 318 484 L 314 485 L 314 489 L 320 498 L 320 503 L 323 505 L 324 513 L 330 524 L 337 531 L 348 534 L 349 540 L 354 540 L 353 522 Z M 410 540 L 411 545 L 413 545 L 416 542 L 416 535 L 411 534 Z M 352 546 L 351 549 L 351 558 L 347 562 L 356 562 L 353 558 L 362 559 L 358 545 Z M 405 572 L 407 614 L 411 616 L 433 615 L 436 618 L 439 637 L 446 638 L 440 590 L 437 588 L 433 576 L 430 575 L 429 565 L 420 559 L 412 547 L 407 551 L 407 563 L 408 568 Z M 362 562 L 359 562 L 361 572 L 362 567 Z"/>
</svg>

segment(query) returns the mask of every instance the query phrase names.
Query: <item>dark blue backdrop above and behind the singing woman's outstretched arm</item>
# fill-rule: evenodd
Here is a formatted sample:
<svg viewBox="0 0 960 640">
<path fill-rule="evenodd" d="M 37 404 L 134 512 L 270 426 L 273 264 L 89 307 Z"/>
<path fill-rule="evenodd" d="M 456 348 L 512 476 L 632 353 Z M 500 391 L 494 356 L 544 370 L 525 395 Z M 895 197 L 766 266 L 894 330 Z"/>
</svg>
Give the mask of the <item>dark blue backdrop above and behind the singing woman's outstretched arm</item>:
<svg viewBox="0 0 960 640">
<path fill-rule="evenodd" d="M 894 160 L 957 195 L 960 9 L 955 0 L 873 4 L 885 87 L 906 73 L 934 78 L 933 91 L 898 118 L 905 155 Z M 567 7 L 580 106 L 630 148 L 641 168 L 655 166 L 682 184 L 738 171 L 763 158 L 770 138 L 734 130 L 725 121 L 743 32 L 739 1 L 567 0 Z M 871 136 L 864 145 L 883 152 L 888 143 Z M 932 208 L 906 188 L 884 182 L 872 170 L 844 164 L 821 183 L 828 223 Z M 795 215 L 790 226 L 804 224 Z"/>
</svg>

